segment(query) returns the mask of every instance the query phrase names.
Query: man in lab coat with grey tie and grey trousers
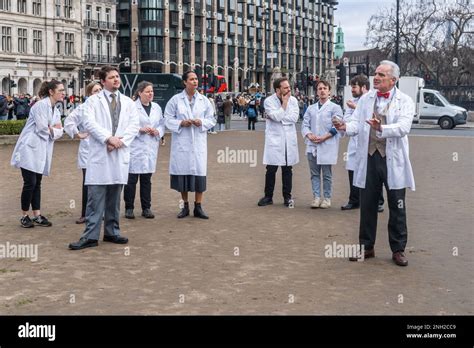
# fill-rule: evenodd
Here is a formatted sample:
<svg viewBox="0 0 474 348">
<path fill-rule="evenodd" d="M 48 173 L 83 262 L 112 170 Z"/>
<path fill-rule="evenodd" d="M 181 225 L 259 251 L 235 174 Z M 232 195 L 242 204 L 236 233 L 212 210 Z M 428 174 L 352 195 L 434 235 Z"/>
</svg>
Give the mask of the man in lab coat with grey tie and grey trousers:
<svg viewBox="0 0 474 348">
<path fill-rule="evenodd" d="M 84 105 L 84 127 L 90 134 L 85 184 L 88 185 L 86 229 L 72 250 L 98 245 L 102 217 L 104 241 L 126 244 L 120 236 L 120 195 L 127 183 L 130 145 L 139 131 L 139 116 L 132 99 L 121 94 L 117 68 L 99 72 L 104 90 Z"/>
</svg>

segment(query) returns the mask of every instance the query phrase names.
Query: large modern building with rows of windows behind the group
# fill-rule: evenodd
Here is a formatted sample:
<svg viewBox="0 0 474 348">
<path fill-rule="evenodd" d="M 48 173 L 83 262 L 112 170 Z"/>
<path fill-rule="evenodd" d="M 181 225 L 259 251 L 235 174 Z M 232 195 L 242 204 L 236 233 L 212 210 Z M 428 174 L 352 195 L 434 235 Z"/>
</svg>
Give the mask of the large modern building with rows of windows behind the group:
<svg viewBox="0 0 474 348">
<path fill-rule="evenodd" d="M 333 63 L 336 0 L 119 0 L 118 49 L 130 72 L 221 75 L 230 91 L 270 90 L 274 68 L 296 81 Z M 121 65 L 122 70 L 125 64 Z"/>
</svg>

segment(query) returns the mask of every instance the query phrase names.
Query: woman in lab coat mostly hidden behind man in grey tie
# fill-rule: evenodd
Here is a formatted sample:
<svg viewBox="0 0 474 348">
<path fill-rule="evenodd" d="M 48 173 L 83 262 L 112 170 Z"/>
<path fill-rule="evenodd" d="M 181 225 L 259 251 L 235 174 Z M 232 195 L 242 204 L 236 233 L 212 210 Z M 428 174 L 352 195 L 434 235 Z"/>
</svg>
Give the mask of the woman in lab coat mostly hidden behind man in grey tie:
<svg viewBox="0 0 474 348">
<path fill-rule="evenodd" d="M 99 82 L 91 82 L 86 86 L 86 96 L 97 94 L 102 90 Z M 77 153 L 77 166 L 82 169 L 82 208 L 81 217 L 76 220 L 76 224 L 86 222 L 86 205 L 87 205 L 87 186 L 84 185 L 86 180 L 87 154 L 89 153 L 89 134 L 84 129 L 84 104 L 79 105 L 64 120 L 64 131 L 71 138 L 81 140 Z"/>
</svg>

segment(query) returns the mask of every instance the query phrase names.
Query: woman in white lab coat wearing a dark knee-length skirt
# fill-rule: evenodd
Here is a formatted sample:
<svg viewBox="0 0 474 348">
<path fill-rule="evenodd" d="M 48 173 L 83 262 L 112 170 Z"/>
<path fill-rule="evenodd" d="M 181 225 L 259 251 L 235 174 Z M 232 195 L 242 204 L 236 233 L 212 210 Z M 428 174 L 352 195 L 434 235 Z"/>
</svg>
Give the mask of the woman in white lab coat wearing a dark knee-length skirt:
<svg viewBox="0 0 474 348">
<path fill-rule="evenodd" d="M 172 132 L 170 153 L 171 188 L 181 193 L 184 205 L 178 218 L 189 215 L 188 192 L 196 192 L 194 216 L 209 217 L 201 207 L 206 191 L 207 131 L 215 126 L 214 109 L 197 92 L 194 71 L 183 74 L 185 89 L 170 99 L 165 108 L 165 124 Z"/>
</svg>

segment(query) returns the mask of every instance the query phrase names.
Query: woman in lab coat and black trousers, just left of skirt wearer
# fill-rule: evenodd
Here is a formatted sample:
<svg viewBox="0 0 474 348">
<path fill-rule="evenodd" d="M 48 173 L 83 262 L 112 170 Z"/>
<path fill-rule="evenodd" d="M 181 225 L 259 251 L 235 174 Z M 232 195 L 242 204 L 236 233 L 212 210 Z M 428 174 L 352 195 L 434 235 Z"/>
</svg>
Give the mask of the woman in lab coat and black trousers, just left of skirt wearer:
<svg viewBox="0 0 474 348">
<path fill-rule="evenodd" d="M 151 211 L 151 176 L 156 170 L 160 138 L 164 135 L 161 107 L 154 103 L 153 84 L 142 81 L 135 92 L 135 104 L 140 116 L 140 133 L 130 146 L 130 170 L 124 189 L 125 217 L 134 219 L 135 192 L 140 179 L 142 216 L 153 219 Z"/>
</svg>

